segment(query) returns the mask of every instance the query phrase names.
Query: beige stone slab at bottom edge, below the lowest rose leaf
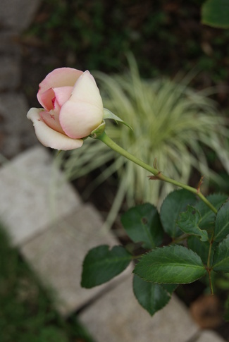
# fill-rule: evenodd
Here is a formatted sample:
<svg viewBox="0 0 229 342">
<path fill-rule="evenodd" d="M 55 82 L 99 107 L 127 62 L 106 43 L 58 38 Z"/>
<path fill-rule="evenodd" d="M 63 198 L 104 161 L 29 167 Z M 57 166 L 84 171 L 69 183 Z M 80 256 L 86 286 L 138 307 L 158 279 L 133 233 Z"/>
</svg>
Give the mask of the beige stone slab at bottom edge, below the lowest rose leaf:
<svg viewBox="0 0 229 342">
<path fill-rule="evenodd" d="M 186 307 L 175 297 L 150 317 L 137 303 L 130 279 L 86 308 L 79 318 L 99 342 L 185 342 L 198 331 Z"/>
</svg>

